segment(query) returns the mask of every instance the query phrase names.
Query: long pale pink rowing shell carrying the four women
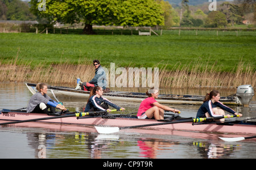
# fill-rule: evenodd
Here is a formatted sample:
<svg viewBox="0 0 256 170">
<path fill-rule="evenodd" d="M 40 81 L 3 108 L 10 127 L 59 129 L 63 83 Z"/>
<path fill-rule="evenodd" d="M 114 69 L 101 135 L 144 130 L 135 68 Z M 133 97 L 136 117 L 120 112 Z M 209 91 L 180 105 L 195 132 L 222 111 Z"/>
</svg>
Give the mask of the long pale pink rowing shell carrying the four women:
<svg viewBox="0 0 256 170">
<path fill-rule="evenodd" d="M 64 114 L 69 114 L 64 113 Z M 26 113 L 25 111 L 19 110 L 9 110 L 2 109 L 0 114 L 1 121 L 22 121 L 22 120 L 31 120 L 36 118 L 47 118 L 47 117 L 56 117 L 48 116 L 47 114 L 42 113 Z M 182 121 L 186 118 L 177 118 L 177 120 L 172 121 Z M 168 119 L 166 120 L 168 121 Z M 65 117 L 65 118 L 55 118 L 49 120 L 41 120 L 39 122 L 50 122 L 57 124 L 76 124 L 76 125 L 97 125 L 97 126 L 137 126 L 137 125 L 147 125 L 147 124 L 156 124 L 159 121 L 156 120 L 141 120 L 136 116 L 127 115 L 127 114 L 102 114 L 95 116 L 84 116 L 84 117 Z M 243 133 L 243 134 L 255 134 L 256 132 L 256 122 L 247 122 L 242 121 L 232 121 L 226 122 L 225 124 L 216 124 L 216 123 L 193 123 L 192 122 L 182 122 L 175 124 L 165 124 L 145 127 L 146 129 L 155 129 L 155 130 L 186 130 L 186 131 L 211 131 L 211 132 L 220 132 L 220 133 Z M 145 129 L 142 128 L 142 129 Z M 129 129 L 126 129 L 129 130 Z"/>
</svg>

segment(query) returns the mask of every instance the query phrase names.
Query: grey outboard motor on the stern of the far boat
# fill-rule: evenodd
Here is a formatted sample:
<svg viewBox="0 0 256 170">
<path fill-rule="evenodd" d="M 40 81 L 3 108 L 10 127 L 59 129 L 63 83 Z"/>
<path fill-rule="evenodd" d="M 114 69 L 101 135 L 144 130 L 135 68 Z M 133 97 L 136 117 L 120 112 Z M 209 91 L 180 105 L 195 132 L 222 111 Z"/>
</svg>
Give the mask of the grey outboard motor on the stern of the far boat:
<svg viewBox="0 0 256 170">
<path fill-rule="evenodd" d="M 242 102 L 244 107 L 249 107 L 249 103 L 254 96 L 253 86 L 251 85 L 241 85 L 237 87 L 236 94 Z"/>
</svg>

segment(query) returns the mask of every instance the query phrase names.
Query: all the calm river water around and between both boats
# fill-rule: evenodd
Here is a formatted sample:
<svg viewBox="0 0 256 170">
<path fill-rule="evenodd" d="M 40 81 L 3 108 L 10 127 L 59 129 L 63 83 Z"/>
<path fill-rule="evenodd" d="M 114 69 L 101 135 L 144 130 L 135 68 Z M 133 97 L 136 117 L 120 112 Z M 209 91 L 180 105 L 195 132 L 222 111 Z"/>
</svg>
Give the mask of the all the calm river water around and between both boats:
<svg viewBox="0 0 256 170">
<path fill-rule="evenodd" d="M 202 95 L 205 91 L 193 93 Z M 232 93 L 221 91 L 225 95 Z M 0 83 L 0 109 L 24 108 L 31 96 L 24 83 Z M 71 111 L 82 111 L 86 103 L 86 99 L 59 100 Z M 114 103 L 125 107 L 127 113 L 136 112 L 139 107 L 139 103 Z M 179 109 L 183 117 L 195 117 L 199 108 L 198 105 L 170 107 Z M 249 108 L 232 108 L 256 117 L 255 96 Z M 0 127 L 0 158 L 256 158 L 255 140 L 224 142 L 218 139 L 221 135 L 227 134 L 173 131 L 172 135 L 158 135 L 157 131 L 154 134 L 120 131 L 103 135 L 92 126 L 77 129 L 69 125 L 16 124 Z"/>
</svg>

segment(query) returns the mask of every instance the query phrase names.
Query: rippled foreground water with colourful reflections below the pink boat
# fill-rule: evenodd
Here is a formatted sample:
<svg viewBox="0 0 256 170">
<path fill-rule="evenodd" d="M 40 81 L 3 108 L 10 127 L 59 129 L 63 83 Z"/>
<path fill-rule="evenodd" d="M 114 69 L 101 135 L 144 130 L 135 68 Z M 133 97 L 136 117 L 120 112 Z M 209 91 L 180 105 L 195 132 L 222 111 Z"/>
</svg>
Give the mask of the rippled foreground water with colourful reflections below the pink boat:
<svg viewBox="0 0 256 170">
<path fill-rule="evenodd" d="M 89 128 L 92 129 L 92 128 Z M 98 134 L 84 131 L 53 131 L 45 128 L 4 127 L 0 142 L 8 139 L 3 132 L 11 131 L 11 146 L 0 146 L 0 158 L 256 158 L 255 142 L 226 143 L 214 139 L 197 139 L 179 135 Z M 17 134 L 26 137 L 20 140 Z M 217 135 L 218 136 L 218 135 Z M 27 143 L 29 148 L 22 148 Z M 10 146 L 9 146 L 10 147 Z M 20 156 L 22 155 L 30 155 Z M 27 153 L 26 153 L 27 152 Z M 2 154 L 5 155 L 2 155 Z M 10 155 L 10 156 L 9 156 Z"/>
</svg>

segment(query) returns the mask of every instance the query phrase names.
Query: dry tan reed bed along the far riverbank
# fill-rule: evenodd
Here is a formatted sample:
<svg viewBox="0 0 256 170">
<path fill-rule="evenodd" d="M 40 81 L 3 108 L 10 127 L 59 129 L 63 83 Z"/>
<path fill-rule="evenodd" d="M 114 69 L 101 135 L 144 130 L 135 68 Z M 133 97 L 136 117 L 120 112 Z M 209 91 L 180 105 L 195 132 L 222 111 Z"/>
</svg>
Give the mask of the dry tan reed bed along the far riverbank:
<svg viewBox="0 0 256 170">
<path fill-rule="evenodd" d="M 18 56 L 18 55 L 17 55 Z M 251 84 L 256 87 L 256 72 L 251 66 L 240 61 L 236 66 L 236 72 L 221 73 L 217 65 L 208 63 L 189 63 L 178 69 L 166 70 L 159 68 L 159 86 L 162 88 L 199 88 L 222 87 L 236 88 L 242 84 Z M 192 69 L 191 69 L 192 68 Z M 203 68 L 203 69 L 202 69 Z M 30 63 L 18 64 L 18 57 L 12 63 L 3 64 L 0 61 L 0 81 L 10 82 L 47 82 L 51 84 L 74 84 L 79 77 L 83 82 L 92 79 L 94 67 L 91 61 L 80 61 L 79 65 L 61 63 L 59 65 L 45 66 L 43 63 L 31 69 Z M 115 75 L 117 78 L 119 75 Z M 154 74 L 152 75 L 154 79 Z M 128 81 L 127 81 L 128 83 Z M 141 84 L 141 82 L 140 82 Z M 142 87 L 140 85 L 140 87 Z"/>
</svg>

